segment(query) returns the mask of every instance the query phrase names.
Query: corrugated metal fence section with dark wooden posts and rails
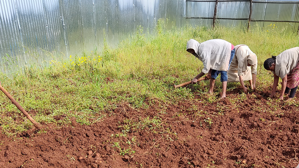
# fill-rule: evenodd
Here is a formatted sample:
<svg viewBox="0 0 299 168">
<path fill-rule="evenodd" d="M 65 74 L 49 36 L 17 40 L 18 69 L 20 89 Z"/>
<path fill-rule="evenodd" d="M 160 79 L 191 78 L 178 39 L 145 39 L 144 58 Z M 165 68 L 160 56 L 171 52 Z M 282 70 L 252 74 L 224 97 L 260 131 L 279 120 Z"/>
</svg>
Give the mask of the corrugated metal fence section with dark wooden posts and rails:
<svg viewBox="0 0 299 168">
<path fill-rule="evenodd" d="M 252 0 L 186 0 L 186 19 L 190 25 L 214 27 L 231 26 L 248 29 L 249 26 L 278 27 L 298 32 L 298 1 Z"/>
</svg>

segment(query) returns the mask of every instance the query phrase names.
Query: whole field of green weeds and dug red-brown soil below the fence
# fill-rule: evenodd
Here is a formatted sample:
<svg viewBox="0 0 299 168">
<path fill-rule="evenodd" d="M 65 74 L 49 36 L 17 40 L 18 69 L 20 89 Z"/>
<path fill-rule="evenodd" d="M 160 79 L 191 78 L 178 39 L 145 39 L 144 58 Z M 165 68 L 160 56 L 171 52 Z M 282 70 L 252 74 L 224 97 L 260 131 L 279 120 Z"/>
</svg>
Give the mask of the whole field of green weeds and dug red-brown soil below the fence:
<svg viewBox="0 0 299 168">
<path fill-rule="evenodd" d="M 278 100 L 279 84 L 270 99 L 273 74 L 263 62 L 299 46 L 299 36 L 273 25 L 167 29 L 160 20 L 155 35 L 139 27 L 117 48 L 1 74 L 1 85 L 42 129 L 1 92 L 0 167 L 295 168 L 298 91 L 292 101 Z M 220 100 L 219 77 L 213 95 L 205 94 L 209 81 L 174 89 L 203 68 L 186 51 L 189 39 L 248 45 L 259 61 L 256 91 L 246 95 L 240 83 L 228 83 Z"/>
</svg>

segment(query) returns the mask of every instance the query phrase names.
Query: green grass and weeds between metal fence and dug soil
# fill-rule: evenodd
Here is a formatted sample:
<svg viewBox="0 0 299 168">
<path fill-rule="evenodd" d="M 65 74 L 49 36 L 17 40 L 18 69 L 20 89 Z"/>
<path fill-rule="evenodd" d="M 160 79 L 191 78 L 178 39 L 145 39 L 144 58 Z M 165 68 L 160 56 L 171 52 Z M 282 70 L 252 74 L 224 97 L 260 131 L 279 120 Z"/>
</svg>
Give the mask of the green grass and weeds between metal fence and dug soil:
<svg viewBox="0 0 299 168">
<path fill-rule="evenodd" d="M 206 92 L 208 81 L 194 85 L 194 90 L 173 89 L 174 84 L 192 80 L 203 68 L 202 62 L 186 52 L 186 43 L 191 38 L 199 42 L 220 38 L 234 45 L 248 45 L 258 56 L 258 90 L 273 82 L 272 74 L 263 68 L 263 61 L 299 46 L 297 35 L 272 26 L 246 32 L 222 27 L 167 29 L 165 25 L 159 20 L 154 35 L 145 34 L 139 27 L 135 35 L 121 41 L 117 48 L 104 43 L 101 51 L 68 56 L 68 60 L 50 55 L 53 60 L 49 66 L 36 63 L 10 75 L 1 74 L 1 84 L 26 111 L 34 113 L 39 123 L 67 124 L 69 118 L 75 117 L 79 123 L 92 124 L 112 114 L 120 104 L 148 108 L 157 103 L 176 104 L 193 99 L 195 92 Z M 220 86 L 215 90 L 217 94 L 221 92 L 219 80 L 216 85 Z M 237 86 L 238 83 L 229 84 L 228 89 Z M 205 101 L 212 103 L 216 98 L 211 96 Z M 30 128 L 31 123 L 2 92 L 0 102 L 2 132 L 11 135 Z"/>
</svg>

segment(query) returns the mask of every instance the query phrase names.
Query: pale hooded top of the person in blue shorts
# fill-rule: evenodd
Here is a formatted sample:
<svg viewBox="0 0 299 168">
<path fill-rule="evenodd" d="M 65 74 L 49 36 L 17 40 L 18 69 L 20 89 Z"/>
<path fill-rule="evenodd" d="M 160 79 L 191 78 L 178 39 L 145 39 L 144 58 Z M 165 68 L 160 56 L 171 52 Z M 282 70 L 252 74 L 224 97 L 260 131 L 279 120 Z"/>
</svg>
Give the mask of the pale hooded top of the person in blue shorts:
<svg viewBox="0 0 299 168">
<path fill-rule="evenodd" d="M 230 42 L 212 39 L 199 43 L 191 39 L 187 42 L 187 49 L 194 49 L 195 56 L 203 63 L 203 73 L 208 73 L 210 69 L 228 71 L 231 53 Z"/>
</svg>

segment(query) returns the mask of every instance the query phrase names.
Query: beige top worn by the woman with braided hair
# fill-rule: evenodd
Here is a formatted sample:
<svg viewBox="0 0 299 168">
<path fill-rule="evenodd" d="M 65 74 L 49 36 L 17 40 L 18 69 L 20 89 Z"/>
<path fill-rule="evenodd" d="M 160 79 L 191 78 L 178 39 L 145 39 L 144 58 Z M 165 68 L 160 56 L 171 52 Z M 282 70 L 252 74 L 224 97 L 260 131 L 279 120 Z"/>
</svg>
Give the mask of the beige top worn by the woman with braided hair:
<svg viewBox="0 0 299 168">
<path fill-rule="evenodd" d="M 297 66 L 299 61 L 299 47 L 287 49 L 276 58 L 274 72 L 277 76 L 284 78 Z"/>
</svg>

